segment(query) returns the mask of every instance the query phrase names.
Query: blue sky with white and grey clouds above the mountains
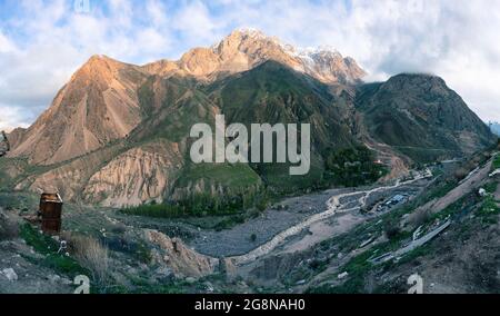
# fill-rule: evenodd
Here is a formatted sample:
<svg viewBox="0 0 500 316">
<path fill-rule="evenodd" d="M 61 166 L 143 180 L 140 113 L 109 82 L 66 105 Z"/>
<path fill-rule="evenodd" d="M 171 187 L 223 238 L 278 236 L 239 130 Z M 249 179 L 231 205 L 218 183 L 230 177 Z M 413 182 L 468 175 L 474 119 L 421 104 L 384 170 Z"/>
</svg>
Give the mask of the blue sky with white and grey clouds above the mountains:
<svg viewBox="0 0 500 316">
<path fill-rule="evenodd" d="M 0 129 L 31 125 L 92 55 L 176 60 L 236 28 L 334 47 L 366 81 L 434 73 L 500 121 L 500 1 L 0 0 Z"/>
</svg>

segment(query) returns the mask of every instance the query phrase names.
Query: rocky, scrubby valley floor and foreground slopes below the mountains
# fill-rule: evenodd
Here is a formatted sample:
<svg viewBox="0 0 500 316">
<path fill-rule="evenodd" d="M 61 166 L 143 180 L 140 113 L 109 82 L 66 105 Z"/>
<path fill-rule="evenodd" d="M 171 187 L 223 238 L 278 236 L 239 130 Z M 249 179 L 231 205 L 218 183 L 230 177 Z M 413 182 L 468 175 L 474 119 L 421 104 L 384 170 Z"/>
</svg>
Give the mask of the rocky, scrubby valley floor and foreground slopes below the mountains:
<svg viewBox="0 0 500 316">
<path fill-rule="evenodd" d="M 63 228 L 106 245 L 107 277 L 94 279 L 96 293 L 406 293 L 414 273 L 426 293 L 499 293 L 499 215 L 477 196 L 484 186 L 499 203 L 489 169 L 491 161 L 446 190 L 437 185 L 442 175 L 421 172 L 392 185 L 287 198 L 226 229 L 214 229 L 224 220 L 218 217 L 158 219 L 77 205 L 66 206 Z M 403 200 L 391 203 L 396 197 Z M 36 204 L 22 194 L 11 198 L 19 203 L 1 213 L 22 225 L 18 214 Z M 437 207 L 439 214 L 416 219 L 418 211 Z M 420 227 L 412 224 L 419 220 Z M 450 227 L 424 245 L 373 264 L 446 220 Z M 32 243 L 22 234 L 0 240 L 0 271 L 17 274 L 8 280 L 1 273 L 0 288 L 71 293 L 79 268 L 48 265 L 51 254 L 39 254 Z"/>
</svg>

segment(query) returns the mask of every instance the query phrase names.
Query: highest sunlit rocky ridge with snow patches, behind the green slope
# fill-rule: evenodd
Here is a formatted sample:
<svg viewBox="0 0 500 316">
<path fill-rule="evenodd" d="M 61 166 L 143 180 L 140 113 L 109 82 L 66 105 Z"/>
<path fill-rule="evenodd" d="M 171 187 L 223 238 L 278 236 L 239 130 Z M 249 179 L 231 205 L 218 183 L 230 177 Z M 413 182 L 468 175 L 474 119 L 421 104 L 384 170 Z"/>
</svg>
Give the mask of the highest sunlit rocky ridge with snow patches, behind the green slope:
<svg viewBox="0 0 500 316">
<path fill-rule="evenodd" d="M 352 58 L 343 58 L 333 49 L 296 49 L 251 29 L 234 30 L 218 45 L 194 48 L 178 61 L 160 60 L 146 65 L 144 69 L 154 75 L 194 76 L 211 81 L 250 70 L 268 60 L 283 63 L 324 83 L 354 83 L 366 76 Z"/>
</svg>

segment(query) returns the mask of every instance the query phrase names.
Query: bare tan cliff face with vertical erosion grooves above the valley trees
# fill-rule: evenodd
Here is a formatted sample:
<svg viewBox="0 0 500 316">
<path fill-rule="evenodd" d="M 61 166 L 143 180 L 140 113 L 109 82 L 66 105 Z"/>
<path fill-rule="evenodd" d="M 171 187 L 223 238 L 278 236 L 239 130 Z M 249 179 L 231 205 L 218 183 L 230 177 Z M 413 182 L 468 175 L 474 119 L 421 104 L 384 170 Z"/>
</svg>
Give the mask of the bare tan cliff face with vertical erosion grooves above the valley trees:
<svg viewBox="0 0 500 316">
<path fill-rule="evenodd" d="M 111 207 L 161 203 L 182 164 L 179 144 L 158 141 L 130 149 L 90 177 L 83 199 Z"/>
</svg>

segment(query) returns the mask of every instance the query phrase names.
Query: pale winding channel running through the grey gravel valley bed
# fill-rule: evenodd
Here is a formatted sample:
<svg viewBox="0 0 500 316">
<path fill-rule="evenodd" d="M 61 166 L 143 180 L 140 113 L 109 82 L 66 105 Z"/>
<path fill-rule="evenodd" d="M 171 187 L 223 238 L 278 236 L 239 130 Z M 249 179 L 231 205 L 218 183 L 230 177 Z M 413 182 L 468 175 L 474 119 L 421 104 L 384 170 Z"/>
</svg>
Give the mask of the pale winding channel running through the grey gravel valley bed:
<svg viewBox="0 0 500 316">
<path fill-rule="evenodd" d="M 310 217 L 308 217 L 307 219 L 304 219 L 303 221 L 279 233 L 278 235 L 276 235 L 271 240 L 267 241 L 266 244 L 260 245 L 259 247 L 257 247 L 256 249 L 241 255 L 241 256 L 234 256 L 231 257 L 231 259 L 234 261 L 234 264 L 237 265 L 244 265 L 244 264 L 249 264 L 254 261 L 256 259 L 271 253 L 273 249 L 276 249 L 279 245 L 281 245 L 287 238 L 294 236 L 299 233 L 301 233 L 303 229 L 310 227 L 311 225 L 322 221 L 324 219 L 328 219 L 330 217 L 332 217 L 336 214 L 340 214 L 340 213 L 349 213 L 352 210 L 358 210 L 361 207 L 364 207 L 367 204 L 368 198 L 378 191 L 383 191 L 383 190 L 389 190 L 389 189 L 396 189 L 398 187 L 404 186 L 404 185 L 410 185 L 412 182 L 416 182 L 418 180 L 428 178 L 428 177 L 432 177 L 432 175 L 422 175 L 419 177 L 416 177 L 412 180 L 408 180 L 404 182 L 400 182 L 399 180 L 392 185 L 392 186 L 386 186 L 386 187 L 378 187 L 378 188 L 373 188 L 373 189 L 369 189 L 369 190 L 363 190 L 363 191 L 353 191 L 353 192 L 347 192 L 347 194 L 340 194 L 340 195 L 336 195 L 333 197 L 331 197 L 328 201 L 327 201 L 327 210 L 320 214 L 314 214 Z M 352 197 L 352 196 L 357 196 L 357 195 L 361 195 L 361 197 L 358 199 L 358 203 L 360 206 L 357 207 L 352 207 L 352 208 L 342 208 L 342 205 L 340 203 L 341 199 L 343 198 L 348 198 L 348 197 Z"/>
</svg>

